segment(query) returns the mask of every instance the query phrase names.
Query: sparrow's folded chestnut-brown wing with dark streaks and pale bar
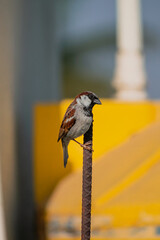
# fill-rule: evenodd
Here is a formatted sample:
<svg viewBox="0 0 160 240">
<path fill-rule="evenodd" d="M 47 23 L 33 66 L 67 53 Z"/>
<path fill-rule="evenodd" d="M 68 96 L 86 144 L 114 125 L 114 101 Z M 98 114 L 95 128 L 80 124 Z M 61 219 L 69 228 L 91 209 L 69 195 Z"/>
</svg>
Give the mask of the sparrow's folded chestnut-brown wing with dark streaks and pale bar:
<svg viewBox="0 0 160 240">
<path fill-rule="evenodd" d="M 71 104 L 64 115 L 60 130 L 59 130 L 58 141 L 64 138 L 67 135 L 68 131 L 75 124 L 76 119 L 74 117 L 74 113 L 75 113 L 75 108 L 73 108 Z"/>
</svg>

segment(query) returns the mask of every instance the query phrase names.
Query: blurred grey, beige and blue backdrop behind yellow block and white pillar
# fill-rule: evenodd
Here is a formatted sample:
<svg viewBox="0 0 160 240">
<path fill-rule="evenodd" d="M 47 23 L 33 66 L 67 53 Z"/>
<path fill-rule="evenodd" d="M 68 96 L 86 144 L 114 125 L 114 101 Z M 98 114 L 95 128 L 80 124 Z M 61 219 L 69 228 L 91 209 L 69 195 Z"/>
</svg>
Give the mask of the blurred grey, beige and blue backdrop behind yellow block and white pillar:
<svg viewBox="0 0 160 240">
<path fill-rule="evenodd" d="M 1 0 L 0 163 L 7 239 L 37 239 L 34 107 L 115 96 L 115 0 Z M 141 0 L 148 99 L 160 97 L 160 1 Z"/>
</svg>

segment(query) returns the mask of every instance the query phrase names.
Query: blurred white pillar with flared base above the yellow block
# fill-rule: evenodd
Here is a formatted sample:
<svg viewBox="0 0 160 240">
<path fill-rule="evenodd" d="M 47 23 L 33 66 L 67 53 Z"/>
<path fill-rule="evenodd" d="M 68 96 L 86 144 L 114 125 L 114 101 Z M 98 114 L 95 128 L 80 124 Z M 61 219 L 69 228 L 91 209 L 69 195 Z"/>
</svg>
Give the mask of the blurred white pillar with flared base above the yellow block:
<svg viewBox="0 0 160 240">
<path fill-rule="evenodd" d="M 117 0 L 116 98 L 143 100 L 146 75 L 142 55 L 140 0 Z"/>
</svg>

